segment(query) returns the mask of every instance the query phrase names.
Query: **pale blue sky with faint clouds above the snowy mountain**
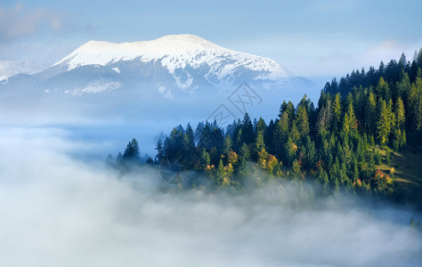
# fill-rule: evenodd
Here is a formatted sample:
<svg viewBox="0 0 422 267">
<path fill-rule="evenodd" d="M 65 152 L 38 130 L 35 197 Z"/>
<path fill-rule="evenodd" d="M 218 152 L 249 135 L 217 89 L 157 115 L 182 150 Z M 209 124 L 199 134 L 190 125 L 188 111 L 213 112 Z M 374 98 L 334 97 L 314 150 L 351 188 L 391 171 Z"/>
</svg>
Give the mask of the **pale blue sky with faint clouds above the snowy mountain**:
<svg viewBox="0 0 422 267">
<path fill-rule="evenodd" d="M 53 63 L 88 40 L 193 34 L 278 61 L 302 77 L 411 59 L 422 46 L 422 1 L 0 2 L 0 60 Z"/>
</svg>

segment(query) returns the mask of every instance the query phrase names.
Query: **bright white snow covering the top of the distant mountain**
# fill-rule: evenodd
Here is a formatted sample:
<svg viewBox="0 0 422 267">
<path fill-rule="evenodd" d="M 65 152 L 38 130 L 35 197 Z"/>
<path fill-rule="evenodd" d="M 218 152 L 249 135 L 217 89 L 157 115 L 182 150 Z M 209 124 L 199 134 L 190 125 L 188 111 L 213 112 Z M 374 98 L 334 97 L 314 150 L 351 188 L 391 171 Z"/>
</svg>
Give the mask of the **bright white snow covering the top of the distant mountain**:
<svg viewBox="0 0 422 267">
<path fill-rule="evenodd" d="M 294 77 L 276 61 L 239 53 L 191 35 L 163 36 L 151 41 L 122 44 L 89 41 L 53 66 L 72 70 L 86 65 L 111 66 L 121 61 L 159 63 L 181 88 L 190 87 L 195 79 L 186 71 L 188 65 L 192 69 L 206 66 L 204 77 L 213 84 L 231 81 L 245 70 L 254 72 L 254 80 L 276 81 Z M 181 69 L 183 81 L 178 72 Z"/>
</svg>

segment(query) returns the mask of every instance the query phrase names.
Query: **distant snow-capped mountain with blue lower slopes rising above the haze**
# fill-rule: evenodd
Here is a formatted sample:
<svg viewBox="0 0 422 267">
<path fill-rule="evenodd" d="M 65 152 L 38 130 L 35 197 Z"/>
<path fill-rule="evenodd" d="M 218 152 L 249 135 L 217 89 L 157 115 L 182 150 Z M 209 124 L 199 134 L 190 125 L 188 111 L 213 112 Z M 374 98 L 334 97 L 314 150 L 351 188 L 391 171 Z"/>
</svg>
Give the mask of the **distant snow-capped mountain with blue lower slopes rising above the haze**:
<svg viewBox="0 0 422 267">
<path fill-rule="evenodd" d="M 201 88 L 232 90 L 243 82 L 279 89 L 309 82 L 271 59 L 191 35 L 122 44 L 89 41 L 50 68 L 12 80 L 45 93 L 81 95 L 142 87 L 167 98 Z"/>
</svg>

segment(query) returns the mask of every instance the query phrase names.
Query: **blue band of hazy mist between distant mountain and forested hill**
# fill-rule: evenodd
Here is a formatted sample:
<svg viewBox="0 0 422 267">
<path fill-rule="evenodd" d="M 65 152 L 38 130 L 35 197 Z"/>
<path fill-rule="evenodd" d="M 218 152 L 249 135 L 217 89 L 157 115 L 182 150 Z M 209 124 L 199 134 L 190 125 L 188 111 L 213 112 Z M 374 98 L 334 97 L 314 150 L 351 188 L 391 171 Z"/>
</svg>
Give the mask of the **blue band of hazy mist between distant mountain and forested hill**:
<svg viewBox="0 0 422 267">
<path fill-rule="evenodd" d="M 248 98 L 248 94 L 237 88 L 238 85 L 223 91 L 212 87 L 199 88 L 198 93 L 180 91 L 174 93 L 174 98 L 167 99 L 158 93 L 156 86 L 150 85 L 82 95 L 45 93 L 43 88 L 28 92 L 28 88 L 22 86 L 12 88 L 11 94 L 0 93 L 0 124 L 18 127 L 54 125 L 68 129 L 82 141 L 112 140 L 114 147 L 91 155 L 97 158 L 109 153 L 116 156 L 125 149 L 128 141 L 136 138 L 143 156 L 145 153 L 154 154 L 160 132 L 169 133 L 176 125 L 191 123 L 195 130 L 200 121 L 212 123 L 221 115 L 224 117 L 221 125 L 227 126 L 233 120 L 241 119 L 246 111 L 250 117 L 264 117 L 269 123 L 277 117 L 283 100 L 298 102 L 306 92 L 304 89 L 297 92 L 286 88 L 273 91 L 255 88 L 257 96 Z M 316 100 L 320 91 L 307 93 Z M 240 96 L 244 97 L 242 101 L 238 99 Z"/>
</svg>

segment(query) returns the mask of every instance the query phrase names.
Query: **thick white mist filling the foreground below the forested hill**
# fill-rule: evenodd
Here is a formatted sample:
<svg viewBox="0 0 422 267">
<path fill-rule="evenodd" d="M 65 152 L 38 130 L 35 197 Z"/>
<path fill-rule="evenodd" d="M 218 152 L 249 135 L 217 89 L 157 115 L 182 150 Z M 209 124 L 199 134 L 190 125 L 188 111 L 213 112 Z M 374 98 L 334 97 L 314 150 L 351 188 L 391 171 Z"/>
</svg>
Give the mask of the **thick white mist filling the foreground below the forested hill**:
<svg viewBox="0 0 422 267">
<path fill-rule="evenodd" d="M 288 184 L 178 190 L 152 169 L 119 177 L 75 155 L 103 143 L 2 128 L 2 266 L 419 266 L 420 214 L 354 197 L 292 205 Z M 163 190 L 165 189 L 165 190 Z"/>
</svg>

